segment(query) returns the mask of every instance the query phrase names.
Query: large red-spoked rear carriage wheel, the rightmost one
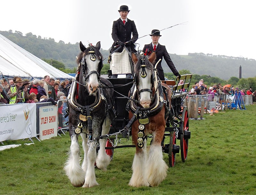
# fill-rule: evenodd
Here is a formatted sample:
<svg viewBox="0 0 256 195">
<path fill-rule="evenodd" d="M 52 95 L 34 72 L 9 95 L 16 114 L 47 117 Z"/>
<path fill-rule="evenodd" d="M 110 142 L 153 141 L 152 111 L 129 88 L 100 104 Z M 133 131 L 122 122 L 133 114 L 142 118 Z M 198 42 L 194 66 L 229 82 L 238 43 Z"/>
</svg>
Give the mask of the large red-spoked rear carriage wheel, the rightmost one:
<svg viewBox="0 0 256 195">
<path fill-rule="evenodd" d="M 184 106 L 180 121 L 180 153 L 182 162 L 185 162 L 187 159 L 188 139 L 190 139 L 190 131 L 188 128 L 188 107 Z"/>
</svg>

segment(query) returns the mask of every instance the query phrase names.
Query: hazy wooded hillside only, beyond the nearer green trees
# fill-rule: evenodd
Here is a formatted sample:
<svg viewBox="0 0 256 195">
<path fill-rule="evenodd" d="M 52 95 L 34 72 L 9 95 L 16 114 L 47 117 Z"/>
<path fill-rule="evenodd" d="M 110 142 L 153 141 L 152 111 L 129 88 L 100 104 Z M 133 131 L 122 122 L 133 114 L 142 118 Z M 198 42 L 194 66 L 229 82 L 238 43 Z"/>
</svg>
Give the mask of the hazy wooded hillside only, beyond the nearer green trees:
<svg viewBox="0 0 256 195">
<path fill-rule="evenodd" d="M 0 31 L 9 40 L 41 59 L 57 60 L 65 64 L 66 68 L 76 67 L 76 56 L 80 52 L 78 42 L 76 44 L 54 41 L 53 38 L 42 38 L 32 33 L 23 33 L 12 30 Z M 108 56 L 108 50 L 100 50 L 102 55 Z M 230 77 L 239 77 L 239 67 L 242 67 L 242 78 L 256 76 L 256 61 L 232 56 L 213 56 L 204 53 L 189 53 L 188 55 L 170 54 L 178 71 L 189 70 L 193 74 L 208 75 L 228 80 Z M 104 61 L 107 64 L 107 59 Z M 171 72 L 163 61 L 165 73 Z"/>
</svg>

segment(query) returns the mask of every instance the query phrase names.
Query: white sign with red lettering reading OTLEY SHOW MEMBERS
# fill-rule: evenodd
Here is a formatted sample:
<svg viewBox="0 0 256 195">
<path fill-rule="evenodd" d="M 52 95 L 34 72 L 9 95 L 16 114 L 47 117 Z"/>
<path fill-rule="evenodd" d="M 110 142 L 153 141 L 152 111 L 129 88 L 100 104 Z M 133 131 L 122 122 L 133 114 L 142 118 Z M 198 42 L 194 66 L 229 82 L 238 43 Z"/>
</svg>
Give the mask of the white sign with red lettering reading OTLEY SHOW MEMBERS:
<svg viewBox="0 0 256 195">
<path fill-rule="evenodd" d="M 57 106 L 39 108 L 39 139 L 50 139 L 57 136 L 58 117 Z"/>
</svg>

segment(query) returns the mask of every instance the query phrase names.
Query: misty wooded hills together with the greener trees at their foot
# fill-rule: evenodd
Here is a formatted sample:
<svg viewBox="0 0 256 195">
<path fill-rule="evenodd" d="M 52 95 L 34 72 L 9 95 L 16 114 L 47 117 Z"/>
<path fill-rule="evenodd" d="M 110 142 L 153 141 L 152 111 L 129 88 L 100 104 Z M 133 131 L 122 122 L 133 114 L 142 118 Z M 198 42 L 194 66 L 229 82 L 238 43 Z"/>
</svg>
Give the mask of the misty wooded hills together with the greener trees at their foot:
<svg viewBox="0 0 256 195">
<path fill-rule="evenodd" d="M 76 72 L 76 56 L 80 53 L 78 42 L 76 44 L 65 43 L 64 41 L 55 42 L 53 38 L 42 38 L 31 32 L 25 35 L 20 31 L 13 32 L 12 30 L 0 31 L 0 33 L 59 70 L 66 73 Z M 104 49 L 100 49 L 100 52 L 104 58 L 109 54 L 109 51 Z M 254 59 L 204 53 L 170 54 L 170 56 L 180 74 L 193 74 L 191 84 L 204 79 L 204 83 L 208 86 L 221 83 L 245 89 L 251 86 L 254 90 L 256 89 L 256 61 Z M 103 63 L 104 67 L 101 74 L 107 74 L 109 69 L 107 59 Z M 175 79 L 164 60 L 162 66 L 165 77 Z M 242 79 L 238 79 L 240 66 L 242 67 Z"/>
</svg>

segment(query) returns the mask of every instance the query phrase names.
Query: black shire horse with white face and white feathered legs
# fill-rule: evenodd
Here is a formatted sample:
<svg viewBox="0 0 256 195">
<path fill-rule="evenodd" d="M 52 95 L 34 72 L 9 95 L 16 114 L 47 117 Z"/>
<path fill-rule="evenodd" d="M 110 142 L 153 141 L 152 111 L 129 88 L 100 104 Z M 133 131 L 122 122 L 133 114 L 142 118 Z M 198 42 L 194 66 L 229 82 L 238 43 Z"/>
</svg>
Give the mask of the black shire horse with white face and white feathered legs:
<svg viewBox="0 0 256 195">
<path fill-rule="evenodd" d="M 112 84 L 100 77 L 103 67 L 100 41 L 96 46 L 85 47 L 80 41 L 81 53 L 77 57 L 77 72 L 68 94 L 70 152 L 64 170 L 71 184 L 75 187 L 98 185 L 95 176 L 95 162 L 99 169 L 106 170 L 110 157 L 105 152 L 106 139 L 99 139 L 108 134 L 113 110 Z M 108 86 L 104 88 L 104 86 Z M 81 135 L 84 160 L 80 165 L 78 136 Z M 97 143 L 100 143 L 98 155 Z"/>
</svg>

